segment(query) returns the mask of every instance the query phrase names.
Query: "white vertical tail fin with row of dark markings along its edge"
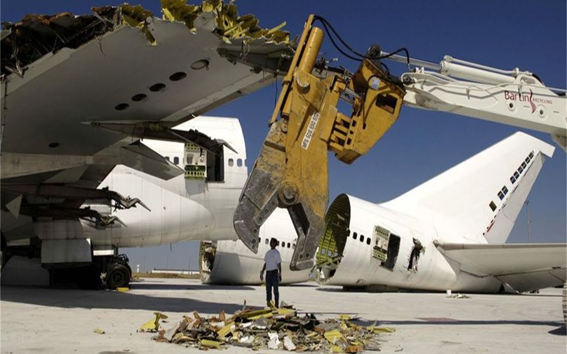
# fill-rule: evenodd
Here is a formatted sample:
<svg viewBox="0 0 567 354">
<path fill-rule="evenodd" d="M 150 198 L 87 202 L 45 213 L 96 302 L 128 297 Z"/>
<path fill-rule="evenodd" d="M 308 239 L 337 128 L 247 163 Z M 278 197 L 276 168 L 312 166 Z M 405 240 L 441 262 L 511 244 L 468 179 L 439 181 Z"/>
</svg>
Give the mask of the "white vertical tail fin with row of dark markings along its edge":
<svg viewBox="0 0 567 354">
<path fill-rule="evenodd" d="M 554 150 L 515 133 L 383 205 L 439 225 L 443 234 L 503 243 Z"/>
</svg>

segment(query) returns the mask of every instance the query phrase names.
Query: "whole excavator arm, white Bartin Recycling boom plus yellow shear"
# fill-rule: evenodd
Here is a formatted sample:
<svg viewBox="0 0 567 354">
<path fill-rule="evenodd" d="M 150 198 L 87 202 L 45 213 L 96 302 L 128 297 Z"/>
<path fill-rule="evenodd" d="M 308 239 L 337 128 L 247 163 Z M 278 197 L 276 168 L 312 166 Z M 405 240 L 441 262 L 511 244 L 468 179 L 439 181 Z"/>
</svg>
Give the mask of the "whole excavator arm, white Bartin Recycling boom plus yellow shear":
<svg viewBox="0 0 567 354">
<path fill-rule="evenodd" d="M 384 53 L 377 46 L 353 74 L 328 70 L 317 60 L 323 31 L 313 26 L 314 19 L 309 16 L 299 39 L 268 136 L 234 214 L 236 233 L 254 253 L 260 226 L 276 207 L 287 208 L 298 234 L 290 268 L 312 267 L 325 229 L 327 151 L 353 163 L 390 129 L 403 104 L 545 131 L 566 149 L 565 90 L 545 87 L 531 72 L 448 56 L 435 64 Z M 380 59 L 386 58 L 415 69 L 395 78 L 382 69 Z M 348 116 L 338 112 L 340 100 L 352 107 Z"/>
</svg>

